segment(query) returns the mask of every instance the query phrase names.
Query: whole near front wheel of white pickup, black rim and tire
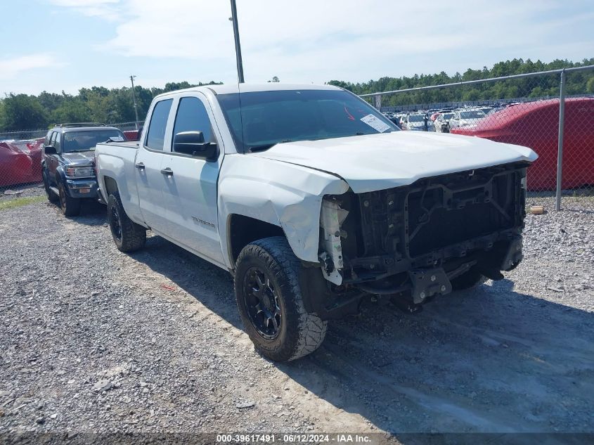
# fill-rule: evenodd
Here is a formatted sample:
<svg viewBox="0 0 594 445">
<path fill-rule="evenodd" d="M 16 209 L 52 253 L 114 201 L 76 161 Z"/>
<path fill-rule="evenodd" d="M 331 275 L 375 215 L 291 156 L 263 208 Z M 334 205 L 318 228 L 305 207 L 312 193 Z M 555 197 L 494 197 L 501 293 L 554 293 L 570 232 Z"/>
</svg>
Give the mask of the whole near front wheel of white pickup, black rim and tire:
<svg viewBox="0 0 594 445">
<path fill-rule="evenodd" d="M 235 298 L 245 331 L 275 361 L 311 354 L 326 334 L 328 322 L 304 307 L 302 267 L 282 237 L 254 241 L 237 259 Z"/>
</svg>

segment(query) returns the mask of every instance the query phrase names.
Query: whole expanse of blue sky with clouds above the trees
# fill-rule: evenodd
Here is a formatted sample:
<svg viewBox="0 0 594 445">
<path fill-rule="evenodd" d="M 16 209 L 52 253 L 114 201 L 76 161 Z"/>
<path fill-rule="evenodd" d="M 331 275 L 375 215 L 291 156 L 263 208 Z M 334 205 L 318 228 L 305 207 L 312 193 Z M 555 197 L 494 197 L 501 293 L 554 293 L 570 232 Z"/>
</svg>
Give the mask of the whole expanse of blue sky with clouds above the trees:
<svg viewBox="0 0 594 445">
<path fill-rule="evenodd" d="M 246 82 L 594 56 L 589 0 L 237 0 Z M 228 0 L 0 0 L 0 94 L 236 82 Z"/>
</svg>

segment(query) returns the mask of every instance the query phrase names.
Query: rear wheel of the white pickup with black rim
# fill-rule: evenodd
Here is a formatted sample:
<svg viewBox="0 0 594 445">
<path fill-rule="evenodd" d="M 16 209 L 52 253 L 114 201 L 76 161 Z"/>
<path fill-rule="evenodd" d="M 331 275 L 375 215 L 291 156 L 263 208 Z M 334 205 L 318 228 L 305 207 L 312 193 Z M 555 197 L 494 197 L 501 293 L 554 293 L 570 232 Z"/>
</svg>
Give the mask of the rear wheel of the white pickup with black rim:
<svg viewBox="0 0 594 445">
<path fill-rule="evenodd" d="M 115 209 L 115 212 L 114 212 Z M 119 218 L 119 220 L 117 220 Z M 119 193 L 112 193 L 108 198 L 108 221 L 110 231 L 117 250 L 120 252 L 134 252 L 144 247 L 146 243 L 146 228 L 132 221 L 122 205 Z M 117 236 L 117 225 L 120 236 Z"/>
</svg>

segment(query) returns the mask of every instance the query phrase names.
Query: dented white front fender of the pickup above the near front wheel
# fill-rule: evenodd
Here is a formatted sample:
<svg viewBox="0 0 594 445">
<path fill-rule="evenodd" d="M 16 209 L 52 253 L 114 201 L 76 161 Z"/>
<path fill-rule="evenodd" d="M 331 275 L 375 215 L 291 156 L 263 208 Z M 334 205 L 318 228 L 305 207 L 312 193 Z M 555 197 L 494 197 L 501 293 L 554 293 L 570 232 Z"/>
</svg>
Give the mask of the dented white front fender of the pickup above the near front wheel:
<svg viewBox="0 0 594 445">
<path fill-rule="evenodd" d="M 219 233 L 226 233 L 229 214 L 274 224 L 283 228 L 295 256 L 306 262 L 318 262 L 324 195 L 349 190 L 332 174 L 243 154 L 226 155 L 219 177 Z M 233 267 L 226 237 L 221 237 L 221 250 Z"/>
</svg>

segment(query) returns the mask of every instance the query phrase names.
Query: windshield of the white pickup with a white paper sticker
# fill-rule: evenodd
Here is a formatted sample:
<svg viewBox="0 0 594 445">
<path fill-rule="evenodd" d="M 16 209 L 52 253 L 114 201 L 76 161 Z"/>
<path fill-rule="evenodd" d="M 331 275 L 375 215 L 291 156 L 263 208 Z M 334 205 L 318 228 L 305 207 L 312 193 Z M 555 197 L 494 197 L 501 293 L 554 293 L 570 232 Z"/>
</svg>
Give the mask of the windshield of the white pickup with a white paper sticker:
<svg viewBox="0 0 594 445">
<path fill-rule="evenodd" d="M 340 90 L 283 90 L 217 96 L 238 150 L 399 131 L 375 108 Z"/>
</svg>

